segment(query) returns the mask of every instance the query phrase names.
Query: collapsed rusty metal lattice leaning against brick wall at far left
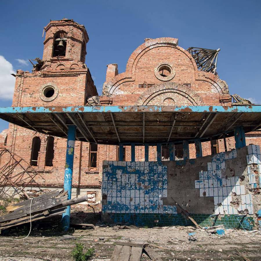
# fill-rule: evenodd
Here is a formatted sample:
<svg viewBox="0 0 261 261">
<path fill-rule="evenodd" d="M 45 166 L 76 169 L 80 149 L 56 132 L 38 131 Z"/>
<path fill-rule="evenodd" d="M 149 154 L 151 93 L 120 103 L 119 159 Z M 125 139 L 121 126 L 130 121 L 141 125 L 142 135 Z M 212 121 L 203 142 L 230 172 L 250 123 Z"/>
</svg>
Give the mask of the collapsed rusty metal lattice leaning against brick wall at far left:
<svg viewBox="0 0 261 261">
<path fill-rule="evenodd" d="M 14 197 L 23 193 L 29 199 L 30 197 L 25 191 L 28 184 L 36 183 L 35 177 L 37 175 L 45 180 L 23 158 L 6 148 L 0 148 L 0 164 L 1 161 L 6 163 L 0 168 L 0 195 Z M 11 191 L 11 188 L 14 190 Z"/>
</svg>

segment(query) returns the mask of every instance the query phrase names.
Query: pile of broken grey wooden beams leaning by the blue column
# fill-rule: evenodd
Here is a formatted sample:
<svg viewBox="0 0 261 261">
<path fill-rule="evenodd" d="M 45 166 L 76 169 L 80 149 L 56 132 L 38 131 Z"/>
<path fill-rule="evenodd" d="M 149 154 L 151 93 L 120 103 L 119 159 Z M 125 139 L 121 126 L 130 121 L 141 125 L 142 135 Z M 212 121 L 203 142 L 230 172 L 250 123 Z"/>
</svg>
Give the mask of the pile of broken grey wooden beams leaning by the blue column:
<svg viewBox="0 0 261 261">
<path fill-rule="evenodd" d="M 71 200 L 67 200 L 67 197 L 67 191 L 63 190 L 59 192 L 57 189 L 35 197 L 33 200 L 28 199 L 8 206 L 6 209 L 7 211 L 10 211 L 10 213 L 0 217 L 0 233 L 3 229 L 30 222 L 31 202 L 31 220 L 36 221 L 62 214 L 65 212 L 66 206 L 78 204 L 87 200 L 87 195 Z"/>
</svg>

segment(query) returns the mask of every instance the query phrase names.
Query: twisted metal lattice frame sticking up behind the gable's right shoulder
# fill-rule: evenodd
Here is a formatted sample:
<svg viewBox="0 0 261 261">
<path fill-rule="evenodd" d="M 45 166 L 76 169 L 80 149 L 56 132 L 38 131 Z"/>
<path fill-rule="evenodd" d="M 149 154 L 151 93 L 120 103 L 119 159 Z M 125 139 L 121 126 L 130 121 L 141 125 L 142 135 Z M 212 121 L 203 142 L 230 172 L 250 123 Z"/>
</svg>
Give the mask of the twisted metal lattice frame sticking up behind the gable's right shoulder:
<svg viewBox="0 0 261 261">
<path fill-rule="evenodd" d="M 218 48 L 217 50 L 212 50 L 205 48 L 189 47 L 187 51 L 194 58 L 197 64 L 197 68 L 199 70 L 216 74 L 218 52 L 220 51 L 220 48 Z"/>
</svg>

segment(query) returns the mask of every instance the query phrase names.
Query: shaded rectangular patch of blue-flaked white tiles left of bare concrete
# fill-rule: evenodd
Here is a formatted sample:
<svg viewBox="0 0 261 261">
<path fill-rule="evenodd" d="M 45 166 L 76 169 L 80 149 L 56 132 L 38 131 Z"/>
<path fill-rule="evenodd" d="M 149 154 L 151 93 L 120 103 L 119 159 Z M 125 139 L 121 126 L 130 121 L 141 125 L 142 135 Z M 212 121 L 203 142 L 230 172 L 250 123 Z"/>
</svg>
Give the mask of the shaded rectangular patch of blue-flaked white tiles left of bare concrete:
<svg viewBox="0 0 261 261">
<path fill-rule="evenodd" d="M 158 162 L 105 160 L 102 195 L 103 213 L 177 213 L 176 206 L 163 205 L 167 166 Z"/>
</svg>

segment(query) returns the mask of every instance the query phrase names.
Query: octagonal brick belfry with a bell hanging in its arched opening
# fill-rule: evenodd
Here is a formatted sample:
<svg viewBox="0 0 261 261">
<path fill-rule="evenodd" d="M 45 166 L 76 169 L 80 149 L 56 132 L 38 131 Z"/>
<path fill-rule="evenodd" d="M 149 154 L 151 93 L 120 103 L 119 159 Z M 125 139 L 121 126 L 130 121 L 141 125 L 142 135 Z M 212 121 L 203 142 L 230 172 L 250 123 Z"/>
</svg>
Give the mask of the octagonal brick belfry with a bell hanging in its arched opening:
<svg viewBox="0 0 261 261">
<path fill-rule="evenodd" d="M 76 23 L 73 19 L 64 18 L 50 21 L 44 30 L 46 33 L 43 54 L 45 64 L 57 63 L 57 61 L 62 61 L 67 65 L 85 63 L 86 44 L 89 37 L 83 25 Z"/>
</svg>

